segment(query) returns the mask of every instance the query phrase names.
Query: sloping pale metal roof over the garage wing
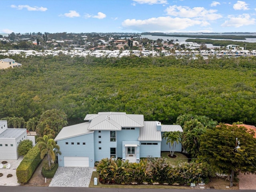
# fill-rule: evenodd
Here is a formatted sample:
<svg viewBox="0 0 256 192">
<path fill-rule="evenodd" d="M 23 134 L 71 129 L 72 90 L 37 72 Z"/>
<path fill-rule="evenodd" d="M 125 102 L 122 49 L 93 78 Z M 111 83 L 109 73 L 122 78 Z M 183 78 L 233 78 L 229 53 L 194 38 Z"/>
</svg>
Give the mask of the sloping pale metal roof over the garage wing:
<svg viewBox="0 0 256 192">
<path fill-rule="evenodd" d="M 54 140 L 58 141 L 66 138 L 72 138 L 75 136 L 93 133 L 94 131 L 87 130 L 89 124 L 90 122 L 84 122 L 80 124 L 63 127 Z"/>
</svg>

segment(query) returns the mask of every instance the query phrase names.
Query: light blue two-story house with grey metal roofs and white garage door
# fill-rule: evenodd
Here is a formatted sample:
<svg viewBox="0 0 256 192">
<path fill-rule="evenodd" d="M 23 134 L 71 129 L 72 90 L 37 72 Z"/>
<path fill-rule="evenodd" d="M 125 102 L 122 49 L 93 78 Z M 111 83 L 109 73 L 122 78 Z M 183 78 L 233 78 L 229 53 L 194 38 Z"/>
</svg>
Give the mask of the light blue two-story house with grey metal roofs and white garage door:
<svg viewBox="0 0 256 192">
<path fill-rule="evenodd" d="M 180 125 L 144 121 L 143 115 L 125 112 L 87 114 L 84 120 L 62 128 L 54 139 L 61 151 L 59 166 L 94 167 L 94 162 L 110 157 L 130 162 L 147 156 L 160 157 L 161 151 L 170 150 L 162 134 L 183 132 Z M 180 143 L 175 151 L 182 151 Z"/>
</svg>

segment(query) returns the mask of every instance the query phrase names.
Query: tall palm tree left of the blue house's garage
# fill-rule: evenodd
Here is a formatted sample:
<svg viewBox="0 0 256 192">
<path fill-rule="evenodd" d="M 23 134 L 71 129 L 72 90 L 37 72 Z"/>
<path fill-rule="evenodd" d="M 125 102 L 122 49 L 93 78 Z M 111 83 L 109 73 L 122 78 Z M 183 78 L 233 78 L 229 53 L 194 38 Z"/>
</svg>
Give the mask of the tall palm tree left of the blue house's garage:
<svg viewBox="0 0 256 192">
<path fill-rule="evenodd" d="M 43 159 L 47 155 L 48 166 L 51 167 L 51 162 L 54 163 L 55 154 L 61 154 L 60 147 L 53 140 L 52 135 L 44 135 L 43 137 L 38 137 L 37 140 L 38 148 L 41 151 L 40 158 Z"/>
</svg>

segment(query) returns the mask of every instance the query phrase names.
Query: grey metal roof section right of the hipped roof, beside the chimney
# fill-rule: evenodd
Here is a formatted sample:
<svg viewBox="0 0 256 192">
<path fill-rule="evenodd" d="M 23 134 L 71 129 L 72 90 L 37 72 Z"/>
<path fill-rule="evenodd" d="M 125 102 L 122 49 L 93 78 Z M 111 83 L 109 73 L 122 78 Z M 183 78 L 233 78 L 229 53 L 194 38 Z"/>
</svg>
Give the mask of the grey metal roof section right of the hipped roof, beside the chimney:
<svg viewBox="0 0 256 192">
<path fill-rule="evenodd" d="M 145 121 L 140 128 L 138 141 L 162 141 L 161 132 L 156 130 L 156 121 Z"/>
</svg>

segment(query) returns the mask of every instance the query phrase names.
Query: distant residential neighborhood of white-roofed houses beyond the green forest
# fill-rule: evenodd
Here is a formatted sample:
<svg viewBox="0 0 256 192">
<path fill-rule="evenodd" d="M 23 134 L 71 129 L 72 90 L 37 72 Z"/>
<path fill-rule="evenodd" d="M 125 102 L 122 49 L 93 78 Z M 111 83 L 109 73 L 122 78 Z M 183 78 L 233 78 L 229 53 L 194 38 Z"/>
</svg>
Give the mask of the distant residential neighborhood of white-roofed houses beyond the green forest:
<svg viewBox="0 0 256 192">
<path fill-rule="evenodd" d="M 70 56 L 122 57 L 176 56 L 186 55 L 191 59 L 203 56 L 256 56 L 256 50 L 246 50 L 235 44 L 208 47 L 196 42 L 176 40 L 151 40 L 140 34 L 67 34 L 30 33 L 0 36 L 0 54 L 6 57 L 13 54 L 22 56 L 44 56 L 66 54 Z M 246 45 L 245 45 L 246 46 Z"/>
</svg>

